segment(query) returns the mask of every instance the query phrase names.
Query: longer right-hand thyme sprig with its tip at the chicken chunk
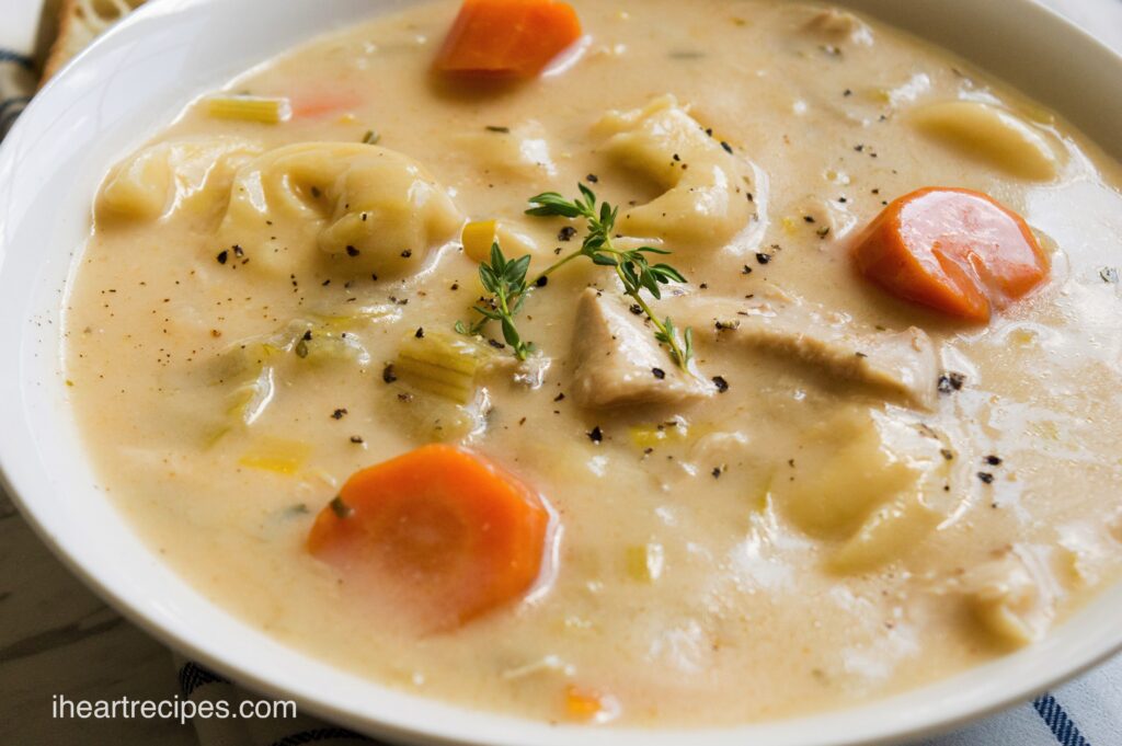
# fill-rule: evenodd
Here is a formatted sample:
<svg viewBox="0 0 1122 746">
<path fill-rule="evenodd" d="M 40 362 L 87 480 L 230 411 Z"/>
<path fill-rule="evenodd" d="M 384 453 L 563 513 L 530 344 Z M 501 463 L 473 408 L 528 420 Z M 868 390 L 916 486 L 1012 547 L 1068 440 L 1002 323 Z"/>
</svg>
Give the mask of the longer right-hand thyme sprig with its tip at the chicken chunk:
<svg viewBox="0 0 1122 746">
<path fill-rule="evenodd" d="M 647 258 L 647 255 L 666 255 L 670 251 L 650 246 L 631 250 L 617 249 L 613 243 L 613 231 L 619 209 L 607 202 L 600 202 L 597 208 L 592 190 L 583 184 L 578 184 L 578 187 L 580 196 L 572 201 L 565 200 L 557 192 L 545 192 L 530 199 L 530 204 L 533 206 L 526 210 L 527 215 L 560 217 L 570 220 L 583 218 L 588 228 L 580 249 L 554 263 L 539 276 L 539 279 L 548 277 L 550 273 L 578 257 L 588 257 L 592 264 L 613 267 L 619 282 L 623 283 L 624 293 L 651 320 L 655 330 L 654 338 L 665 346 L 670 359 L 682 370 L 689 370 L 690 360 L 693 358 L 693 330 L 686 329 L 679 334 L 674 322 L 669 316 L 660 320 L 642 296 L 642 292 L 646 291 L 659 300 L 662 297 L 661 285 L 686 282 L 682 274 L 670 265 L 651 264 Z"/>
</svg>

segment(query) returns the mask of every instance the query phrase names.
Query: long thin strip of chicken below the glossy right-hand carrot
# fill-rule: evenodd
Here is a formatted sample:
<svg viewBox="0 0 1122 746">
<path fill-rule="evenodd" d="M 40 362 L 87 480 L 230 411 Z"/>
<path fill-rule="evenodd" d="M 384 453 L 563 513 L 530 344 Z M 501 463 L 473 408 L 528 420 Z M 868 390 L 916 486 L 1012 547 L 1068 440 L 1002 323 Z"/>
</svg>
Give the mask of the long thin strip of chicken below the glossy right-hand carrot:
<svg viewBox="0 0 1122 746">
<path fill-rule="evenodd" d="M 930 408 L 938 395 L 939 354 L 914 326 L 903 332 L 856 332 L 845 320 L 829 321 L 797 300 L 689 298 L 674 317 L 695 334 L 799 360 L 835 379 L 856 381 Z"/>
</svg>

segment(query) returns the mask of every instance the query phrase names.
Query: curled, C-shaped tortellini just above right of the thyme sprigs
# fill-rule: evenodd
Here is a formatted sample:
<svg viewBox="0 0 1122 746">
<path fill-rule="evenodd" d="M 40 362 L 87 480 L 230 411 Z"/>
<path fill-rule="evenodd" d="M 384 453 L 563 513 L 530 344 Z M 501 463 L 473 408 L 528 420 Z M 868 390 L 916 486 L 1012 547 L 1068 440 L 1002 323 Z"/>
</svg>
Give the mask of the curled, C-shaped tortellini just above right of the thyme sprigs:
<svg viewBox="0 0 1122 746">
<path fill-rule="evenodd" d="M 671 96 L 646 108 L 610 112 L 597 127 L 604 150 L 666 190 L 623 214 L 620 230 L 675 248 L 727 243 L 752 219 L 752 169 L 709 135 Z"/>
</svg>

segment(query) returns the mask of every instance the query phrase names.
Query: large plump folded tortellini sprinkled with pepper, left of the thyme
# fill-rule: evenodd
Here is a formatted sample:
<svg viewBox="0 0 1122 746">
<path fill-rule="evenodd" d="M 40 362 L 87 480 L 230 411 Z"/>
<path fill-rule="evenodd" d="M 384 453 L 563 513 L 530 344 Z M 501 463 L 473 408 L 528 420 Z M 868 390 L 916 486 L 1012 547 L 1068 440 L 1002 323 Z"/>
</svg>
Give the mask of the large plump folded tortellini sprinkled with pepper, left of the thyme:
<svg viewBox="0 0 1122 746">
<path fill-rule="evenodd" d="M 374 145 L 303 142 L 237 175 L 220 229 L 255 267 L 293 271 L 312 243 L 349 275 L 413 274 L 463 217 L 421 164 Z M 293 240 L 295 239 L 295 240 Z"/>
</svg>

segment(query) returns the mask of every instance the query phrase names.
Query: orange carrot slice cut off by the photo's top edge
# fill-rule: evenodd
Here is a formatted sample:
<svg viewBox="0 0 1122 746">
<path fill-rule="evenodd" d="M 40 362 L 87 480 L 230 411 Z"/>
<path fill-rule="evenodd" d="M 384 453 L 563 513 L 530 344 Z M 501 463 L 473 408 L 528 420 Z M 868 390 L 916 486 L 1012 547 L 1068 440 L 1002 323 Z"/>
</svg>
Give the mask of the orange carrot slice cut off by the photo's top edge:
<svg viewBox="0 0 1122 746">
<path fill-rule="evenodd" d="M 533 77 L 580 38 L 577 11 L 555 0 L 465 0 L 436 70 Z"/>
</svg>

